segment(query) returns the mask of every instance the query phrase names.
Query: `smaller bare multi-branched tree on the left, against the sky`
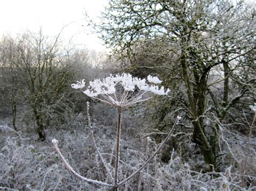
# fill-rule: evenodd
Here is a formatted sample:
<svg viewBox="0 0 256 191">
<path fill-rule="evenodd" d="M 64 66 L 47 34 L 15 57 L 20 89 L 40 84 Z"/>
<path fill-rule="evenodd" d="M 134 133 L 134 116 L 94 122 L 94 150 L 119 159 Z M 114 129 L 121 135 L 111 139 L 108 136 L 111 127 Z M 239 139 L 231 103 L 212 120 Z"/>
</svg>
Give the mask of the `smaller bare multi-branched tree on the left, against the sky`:
<svg viewBox="0 0 256 191">
<path fill-rule="evenodd" d="M 6 46 L 1 52 L 2 62 L 10 73 L 8 83 L 16 88 L 10 90 L 14 95 L 12 108 L 16 109 L 15 96 L 22 97 L 31 109 L 39 139 L 44 140 L 45 129 L 59 123 L 65 111 L 72 110 L 73 104 L 67 99 L 70 91 L 66 89 L 75 70 L 59 44 L 59 35 L 50 39 L 42 30 L 28 31 L 5 42 L 2 42 Z"/>
</svg>

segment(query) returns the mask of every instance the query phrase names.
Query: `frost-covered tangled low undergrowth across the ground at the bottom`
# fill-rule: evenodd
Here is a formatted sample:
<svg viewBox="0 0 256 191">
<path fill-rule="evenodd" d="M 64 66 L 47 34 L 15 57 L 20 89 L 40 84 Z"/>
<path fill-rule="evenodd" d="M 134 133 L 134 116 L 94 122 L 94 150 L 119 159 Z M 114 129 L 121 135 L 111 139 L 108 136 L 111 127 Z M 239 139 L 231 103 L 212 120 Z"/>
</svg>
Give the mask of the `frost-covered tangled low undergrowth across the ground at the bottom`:
<svg viewBox="0 0 256 191">
<path fill-rule="evenodd" d="M 92 128 L 100 152 L 113 165 L 114 128 L 96 124 Z M 74 178 L 63 168 L 59 157 L 49 146 L 51 138 L 58 138 L 60 149 L 77 172 L 91 179 L 105 181 L 106 171 L 92 145 L 90 129 L 83 122 L 73 121 L 72 131 L 67 125 L 62 130 L 48 132 L 48 143 L 38 143 L 24 135 L 19 136 L 6 126 L 1 126 L 0 131 L 3 145 L 0 151 L 0 189 L 107 190 Z M 123 179 L 143 164 L 147 139 L 126 133 L 121 143 L 120 179 Z M 148 155 L 157 147 L 158 144 L 150 140 Z M 235 166 L 228 167 L 221 173 L 203 173 L 183 164 L 178 151 L 171 152 L 171 159 L 167 163 L 161 162 L 160 157 L 161 154 L 157 154 L 146 166 L 140 190 L 242 190 L 242 174 L 235 170 Z M 126 182 L 124 190 L 137 190 L 139 178 L 138 174 Z M 245 174 L 245 178 L 251 180 L 252 184 L 244 190 L 255 189 L 255 177 Z"/>
</svg>

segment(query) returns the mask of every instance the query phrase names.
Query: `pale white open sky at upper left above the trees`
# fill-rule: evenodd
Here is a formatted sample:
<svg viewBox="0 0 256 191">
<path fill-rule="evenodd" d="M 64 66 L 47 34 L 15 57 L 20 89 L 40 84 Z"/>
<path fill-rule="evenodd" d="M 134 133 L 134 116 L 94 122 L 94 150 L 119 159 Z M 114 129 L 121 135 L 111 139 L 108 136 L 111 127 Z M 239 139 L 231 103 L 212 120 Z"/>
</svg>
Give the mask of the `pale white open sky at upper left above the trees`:
<svg viewBox="0 0 256 191">
<path fill-rule="evenodd" d="M 100 16 L 107 0 L 0 0 L 0 37 L 4 33 L 17 34 L 27 29 L 37 32 L 42 26 L 50 36 L 63 32 L 65 39 L 73 37 L 75 44 L 103 51 L 102 41 L 95 34 L 86 34 L 84 12 L 90 17 Z"/>
</svg>

